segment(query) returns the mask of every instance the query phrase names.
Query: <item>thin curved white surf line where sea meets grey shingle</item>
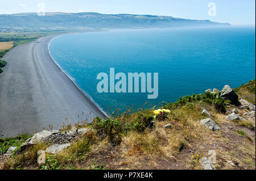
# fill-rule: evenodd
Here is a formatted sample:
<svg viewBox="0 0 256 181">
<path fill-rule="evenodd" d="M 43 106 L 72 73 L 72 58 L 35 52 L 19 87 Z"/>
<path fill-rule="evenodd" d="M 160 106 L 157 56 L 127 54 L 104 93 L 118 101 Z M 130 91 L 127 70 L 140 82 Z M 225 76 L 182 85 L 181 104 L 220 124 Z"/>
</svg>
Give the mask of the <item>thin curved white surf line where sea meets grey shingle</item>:
<svg viewBox="0 0 256 181">
<path fill-rule="evenodd" d="M 86 32 L 81 32 L 81 33 L 86 33 Z M 59 67 L 59 69 L 76 85 L 77 89 L 79 89 L 82 92 L 82 94 L 84 94 L 96 107 L 98 107 L 98 109 L 102 113 L 104 113 L 106 117 L 109 117 L 109 115 L 105 111 L 103 111 L 103 109 L 93 99 L 91 99 L 89 95 L 86 95 L 85 92 L 82 91 L 80 89 L 80 87 L 76 84 L 76 82 L 73 81 L 73 79 L 67 73 L 65 73 L 65 71 L 63 69 L 61 69 L 61 66 L 59 64 L 57 64 L 57 62 L 55 61 L 55 59 L 51 55 L 51 52 L 49 50 L 49 45 L 51 44 L 52 40 L 54 40 L 56 37 L 65 36 L 65 35 L 71 35 L 71 34 L 77 34 L 77 33 L 65 33 L 65 34 L 60 34 L 60 35 L 52 37 L 52 39 L 49 41 L 48 46 L 47 46 L 48 47 L 49 56 L 51 56 L 52 61 L 55 62 L 55 64 Z"/>
</svg>

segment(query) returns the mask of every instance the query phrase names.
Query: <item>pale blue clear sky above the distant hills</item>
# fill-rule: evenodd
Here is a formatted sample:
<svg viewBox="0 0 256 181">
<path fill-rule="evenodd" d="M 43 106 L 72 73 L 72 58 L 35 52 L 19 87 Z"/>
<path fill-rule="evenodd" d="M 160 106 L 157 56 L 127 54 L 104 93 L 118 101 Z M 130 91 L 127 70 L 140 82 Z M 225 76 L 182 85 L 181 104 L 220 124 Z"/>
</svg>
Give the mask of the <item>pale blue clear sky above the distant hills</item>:
<svg viewBox="0 0 256 181">
<path fill-rule="evenodd" d="M 0 14 L 37 12 L 40 2 L 46 12 L 166 15 L 255 26 L 255 0 L 0 0 Z"/>
</svg>

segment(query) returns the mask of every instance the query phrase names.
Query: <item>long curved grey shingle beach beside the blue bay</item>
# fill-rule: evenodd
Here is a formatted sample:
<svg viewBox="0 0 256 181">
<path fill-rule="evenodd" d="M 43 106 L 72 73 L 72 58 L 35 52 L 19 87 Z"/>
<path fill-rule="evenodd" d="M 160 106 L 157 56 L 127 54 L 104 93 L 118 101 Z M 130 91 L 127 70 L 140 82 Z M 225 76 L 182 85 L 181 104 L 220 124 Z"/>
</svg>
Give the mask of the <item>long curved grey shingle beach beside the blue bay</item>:
<svg viewBox="0 0 256 181">
<path fill-rule="evenodd" d="M 48 44 L 56 36 L 19 45 L 2 58 L 8 65 L 0 77 L 0 137 L 106 117 L 52 60 Z"/>
</svg>

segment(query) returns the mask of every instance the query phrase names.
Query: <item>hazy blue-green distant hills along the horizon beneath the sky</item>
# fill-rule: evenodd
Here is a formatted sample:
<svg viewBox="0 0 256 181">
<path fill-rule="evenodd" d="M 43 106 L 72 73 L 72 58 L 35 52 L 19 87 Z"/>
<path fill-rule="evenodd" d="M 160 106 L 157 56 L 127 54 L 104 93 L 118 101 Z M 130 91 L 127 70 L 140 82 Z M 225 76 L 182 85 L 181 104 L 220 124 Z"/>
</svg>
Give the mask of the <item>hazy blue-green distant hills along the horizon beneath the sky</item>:
<svg viewBox="0 0 256 181">
<path fill-rule="evenodd" d="M 199 26 L 230 26 L 228 23 L 210 20 L 180 19 L 172 16 L 99 14 L 96 12 L 64 13 L 47 12 L 38 16 L 35 12 L 0 14 L 0 28 L 171 28 Z"/>
</svg>

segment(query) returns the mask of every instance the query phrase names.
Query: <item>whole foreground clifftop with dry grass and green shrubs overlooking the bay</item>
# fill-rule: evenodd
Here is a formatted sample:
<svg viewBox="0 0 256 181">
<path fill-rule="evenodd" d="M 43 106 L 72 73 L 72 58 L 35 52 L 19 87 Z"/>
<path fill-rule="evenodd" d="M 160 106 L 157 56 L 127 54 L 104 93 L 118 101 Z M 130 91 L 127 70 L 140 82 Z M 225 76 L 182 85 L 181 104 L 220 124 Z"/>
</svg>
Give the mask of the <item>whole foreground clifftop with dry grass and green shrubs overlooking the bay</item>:
<svg viewBox="0 0 256 181">
<path fill-rule="evenodd" d="M 235 90 L 240 96 L 247 91 L 246 98 L 251 100 L 255 80 Z M 155 117 L 159 112 L 154 112 L 159 108 L 170 112 L 165 118 L 160 113 L 159 119 Z M 231 112 L 236 119 L 230 119 Z M 209 118 L 219 130 L 200 123 Z M 230 104 L 220 93 L 185 96 L 176 103 L 127 110 L 106 120 L 96 117 L 92 123 L 63 125 L 59 134 L 70 135 L 81 128 L 86 128 L 84 134 L 72 137 L 71 146 L 60 153 L 47 153 L 46 163 L 41 165 L 38 151 L 54 143 L 40 142 L 23 150 L 26 134 L 0 140 L 2 152 L 17 147 L 11 156 L 0 156 L 2 169 L 203 169 L 202 158 L 213 152 L 215 169 L 255 169 L 255 111 Z"/>
</svg>

